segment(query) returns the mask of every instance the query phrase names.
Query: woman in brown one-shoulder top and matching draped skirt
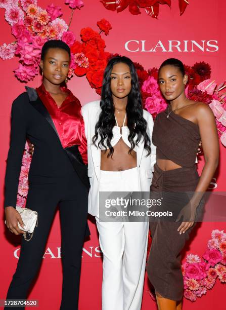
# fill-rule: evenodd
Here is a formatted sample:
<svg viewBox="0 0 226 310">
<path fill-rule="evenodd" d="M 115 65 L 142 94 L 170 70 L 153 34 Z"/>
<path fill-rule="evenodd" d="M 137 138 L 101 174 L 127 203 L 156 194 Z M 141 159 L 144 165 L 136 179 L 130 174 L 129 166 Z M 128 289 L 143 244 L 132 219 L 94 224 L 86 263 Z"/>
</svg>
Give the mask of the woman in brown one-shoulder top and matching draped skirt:
<svg viewBox="0 0 226 310">
<path fill-rule="evenodd" d="M 169 105 L 157 115 L 153 128 L 157 162 L 151 197 L 160 195 L 162 210 L 172 212 L 173 216 L 171 220 L 150 218 L 152 245 L 147 265 L 160 310 L 182 308 L 184 285 L 180 252 L 194 222 L 200 220 L 203 194 L 218 165 L 214 115 L 208 105 L 186 97 L 187 82 L 181 61 L 170 58 L 161 64 L 159 86 Z M 195 161 L 200 140 L 205 165 L 199 177 Z"/>
</svg>

